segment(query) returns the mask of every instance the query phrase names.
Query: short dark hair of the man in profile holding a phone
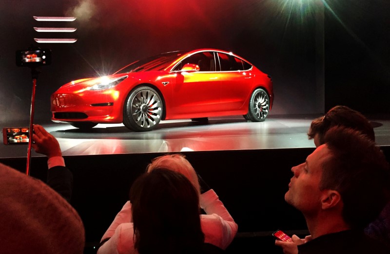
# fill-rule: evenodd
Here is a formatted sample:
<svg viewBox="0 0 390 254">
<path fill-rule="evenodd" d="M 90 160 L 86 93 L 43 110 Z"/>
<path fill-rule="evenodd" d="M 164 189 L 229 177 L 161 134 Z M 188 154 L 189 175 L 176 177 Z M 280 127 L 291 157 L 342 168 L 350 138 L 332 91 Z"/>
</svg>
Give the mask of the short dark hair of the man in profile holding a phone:
<svg viewBox="0 0 390 254">
<path fill-rule="evenodd" d="M 324 141 L 331 156 L 322 165 L 320 189 L 338 191 L 344 221 L 362 229 L 389 201 L 389 164 L 367 135 L 351 128 L 332 127 Z"/>
</svg>

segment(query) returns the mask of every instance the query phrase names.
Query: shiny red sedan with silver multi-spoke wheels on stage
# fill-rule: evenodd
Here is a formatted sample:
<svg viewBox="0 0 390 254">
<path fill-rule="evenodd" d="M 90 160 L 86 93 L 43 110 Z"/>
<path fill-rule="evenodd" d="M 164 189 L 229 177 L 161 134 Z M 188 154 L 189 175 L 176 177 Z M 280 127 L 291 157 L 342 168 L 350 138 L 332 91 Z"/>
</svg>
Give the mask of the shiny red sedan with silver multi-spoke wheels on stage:
<svg viewBox="0 0 390 254">
<path fill-rule="evenodd" d="M 272 105 L 271 77 L 217 49 L 163 53 L 109 76 L 72 81 L 51 96 L 52 121 L 82 129 L 123 123 L 148 131 L 160 120 L 228 115 L 260 122 Z"/>
</svg>

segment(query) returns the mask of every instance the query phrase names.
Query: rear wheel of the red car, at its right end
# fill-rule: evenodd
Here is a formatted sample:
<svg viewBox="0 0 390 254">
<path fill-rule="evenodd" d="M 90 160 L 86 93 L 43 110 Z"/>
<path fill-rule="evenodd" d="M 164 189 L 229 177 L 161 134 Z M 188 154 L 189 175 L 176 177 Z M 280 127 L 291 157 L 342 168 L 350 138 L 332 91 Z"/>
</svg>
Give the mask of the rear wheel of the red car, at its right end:
<svg viewBox="0 0 390 254">
<path fill-rule="evenodd" d="M 268 93 L 262 88 L 257 88 L 251 95 L 248 114 L 244 116 L 245 119 L 252 122 L 262 122 L 267 118 L 269 111 L 270 97 Z"/>
</svg>

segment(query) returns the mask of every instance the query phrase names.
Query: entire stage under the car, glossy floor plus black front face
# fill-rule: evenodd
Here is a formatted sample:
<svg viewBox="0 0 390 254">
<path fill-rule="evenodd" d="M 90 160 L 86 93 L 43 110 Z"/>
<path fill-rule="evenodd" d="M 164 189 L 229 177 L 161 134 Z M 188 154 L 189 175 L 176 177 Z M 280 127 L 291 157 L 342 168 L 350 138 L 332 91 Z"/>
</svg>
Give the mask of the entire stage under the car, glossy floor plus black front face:
<svg viewBox="0 0 390 254">
<path fill-rule="evenodd" d="M 284 201 L 291 168 L 315 149 L 307 131 L 320 115 L 270 115 L 248 123 L 240 116 L 163 121 L 156 130 L 133 132 L 123 125 L 81 131 L 69 124 L 40 123 L 58 140 L 74 175 L 71 204 L 86 230 L 85 253 L 95 253 L 101 236 L 128 199 L 132 182 L 151 159 L 181 152 L 216 191 L 238 224 L 227 253 L 275 253 L 271 233 L 282 229 L 305 235 L 302 214 Z M 368 116 L 376 143 L 390 154 L 390 117 Z M 28 126 L 26 123 L 2 127 Z M 0 146 L 0 162 L 25 171 L 27 146 Z M 31 176 L 45 181 L 46 158 L 32 153 Z"/>
</svg>

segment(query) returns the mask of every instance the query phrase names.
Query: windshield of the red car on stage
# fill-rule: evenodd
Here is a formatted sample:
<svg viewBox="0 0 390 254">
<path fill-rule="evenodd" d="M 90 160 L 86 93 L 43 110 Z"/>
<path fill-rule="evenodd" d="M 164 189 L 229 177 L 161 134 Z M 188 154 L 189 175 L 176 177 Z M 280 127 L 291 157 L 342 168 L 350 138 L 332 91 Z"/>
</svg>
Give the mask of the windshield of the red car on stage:
<svg viewBox="0 0 390 254">
<path fill-rule="evenodd" d="M 139 72 L 139 71 L 163 70 L 184 53 L 186 53 L 186 51 L 175 51 L 175 52 L 159 54 L 153 57 L 148 57 L 143 60 L 138 60 L 118 70 L 115 74 L 123 74 L 129 72 Z"/>
</svg>

